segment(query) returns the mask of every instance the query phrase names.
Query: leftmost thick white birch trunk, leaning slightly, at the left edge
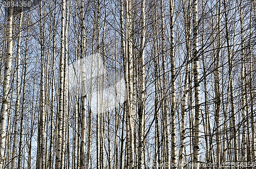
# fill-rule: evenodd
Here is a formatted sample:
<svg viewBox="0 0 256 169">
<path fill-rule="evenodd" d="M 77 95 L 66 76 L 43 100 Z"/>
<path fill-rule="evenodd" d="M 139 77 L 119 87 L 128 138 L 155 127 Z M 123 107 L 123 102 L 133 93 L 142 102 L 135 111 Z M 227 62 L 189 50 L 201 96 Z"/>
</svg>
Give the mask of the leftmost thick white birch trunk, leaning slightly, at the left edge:
<svg viewBox="0 0 256 169">
<path fill-rule="evenodd" d="M 13 2 L 9 0 L 8 2 Z M 1 128 L 0 128 L 0 169 L 3 169 L 5 166 L 5 143 L 6 143 L 6 120 L 8 113 L 8 104 L 9 104 L 9 91 L 10 91 L 10 74 L 11 74 L 11 65 L 12 65 L 12 17 L 13 9 L 8 8 L 8 20 L 7 20 L 7 53 L 5 61 L 5 75 L 4 75 L 4 84 L 3 84 L 3 100 L 1 107 Z"/>
</svg>

